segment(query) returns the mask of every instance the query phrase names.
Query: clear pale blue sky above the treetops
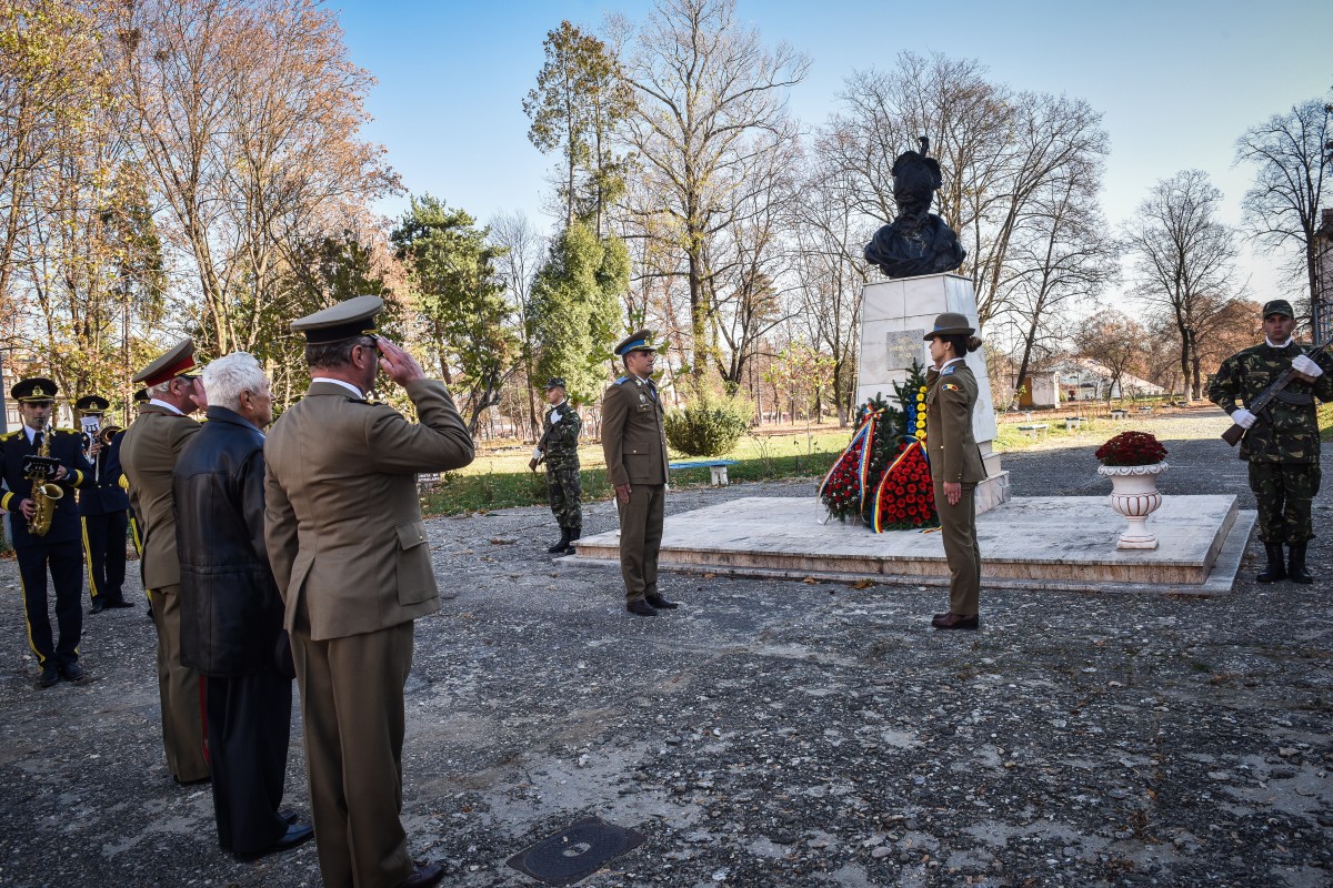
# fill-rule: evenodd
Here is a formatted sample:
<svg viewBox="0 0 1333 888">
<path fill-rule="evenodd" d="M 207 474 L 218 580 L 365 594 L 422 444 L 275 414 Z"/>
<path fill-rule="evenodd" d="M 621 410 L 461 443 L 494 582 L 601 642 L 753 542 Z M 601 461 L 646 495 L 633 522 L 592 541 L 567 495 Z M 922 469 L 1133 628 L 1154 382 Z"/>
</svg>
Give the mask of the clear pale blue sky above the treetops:
<svg viewBox="0 0 1333 888">
<path fill-rule="evenodd" d="M 352 59 L 379 79 L 365 136 L 412 193 L 431 192 L 485 221 L 523 210 L 541 228 L 555 157 L 527 138 L 523 97 L 543 63 L 541 41 L 563 19 L 599 29 L 604 12 L 635 23 L 651 3 L 347 0 Z M 1110 133 L 1105 206 L 1129 217 L 1158 178 L 1200 168 L 1240 222 L 1248 168 L 1232 166 L 1236 137 L 1333 87 L 1330 0 L 1120 0 L 1064 3 L 794 3 L 738 0 L 737 15 L 765 43 L 812 59 L 790 97 L 808 126 L 837 107 L 845 77 L 892 65 L 902 49 L 977 59 L 993 80 L 1068 93 L 1101 111 Z M 385 201 L 397 214 L 405 197 Z M 1273 261 L 1246 264 L 1256 298 L 1277 288 Z"/>
</svg>

